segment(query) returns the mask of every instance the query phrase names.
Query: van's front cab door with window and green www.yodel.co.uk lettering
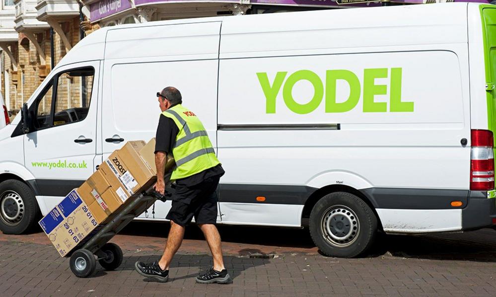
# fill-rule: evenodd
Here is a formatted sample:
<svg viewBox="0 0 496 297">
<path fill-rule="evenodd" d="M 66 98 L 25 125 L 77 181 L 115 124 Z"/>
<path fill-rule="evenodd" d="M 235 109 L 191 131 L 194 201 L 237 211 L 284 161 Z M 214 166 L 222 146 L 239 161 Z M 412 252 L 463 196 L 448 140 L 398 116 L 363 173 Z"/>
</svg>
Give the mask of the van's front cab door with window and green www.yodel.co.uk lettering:
<svg viewBox="0 0 496 297">
<path fill-rule="evenodd" d="M 34 131 L 24 135 L 24 160 L 42 197 L 63 197 L 94 171 L 99 65 L 60 68 L 29 107 Z M 45 199 L 48 209 L 59 201 Z"/>
</svg>

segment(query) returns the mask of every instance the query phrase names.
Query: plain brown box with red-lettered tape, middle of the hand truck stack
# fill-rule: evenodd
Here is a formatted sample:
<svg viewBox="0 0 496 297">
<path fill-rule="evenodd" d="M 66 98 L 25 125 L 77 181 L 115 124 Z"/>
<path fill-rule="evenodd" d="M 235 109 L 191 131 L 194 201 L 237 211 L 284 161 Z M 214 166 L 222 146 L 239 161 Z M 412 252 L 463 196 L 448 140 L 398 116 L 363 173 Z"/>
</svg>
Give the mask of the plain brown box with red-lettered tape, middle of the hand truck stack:
<svg viewBox="0 0 496 297">
<path fill-rule="evenodd" d="M 117 196 L 101 170 L 93 173 L 77 189 L 77 193 L 84 203 L 86 203 L 98 223 L 105 223 L 126 200 Z"/>
</svg>

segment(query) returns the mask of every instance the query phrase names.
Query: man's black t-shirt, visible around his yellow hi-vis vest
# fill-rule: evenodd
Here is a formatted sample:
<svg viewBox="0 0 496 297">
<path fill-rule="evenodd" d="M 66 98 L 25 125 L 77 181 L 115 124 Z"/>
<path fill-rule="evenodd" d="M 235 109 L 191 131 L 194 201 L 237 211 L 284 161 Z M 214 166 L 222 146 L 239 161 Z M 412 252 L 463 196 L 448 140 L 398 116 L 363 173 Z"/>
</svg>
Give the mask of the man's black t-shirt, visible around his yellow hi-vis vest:
<svg viewBox="0 0 496 297">
<path fill-rule="evenodd" d="M 163 114 L 160 115 L 160 119 L 158 120 L 157 134 L 155 137 L 155 153 L 157 151 L 162 151 L 167 154 L 172 154 L 172 148 L 174 147 L 174 143 L 176 142 L 177 134 L 179 133 L 179 128 L 176 123 Z M 192 176 L 188 176 L 185 178 L 181 178 L 176 180 L 176 183 L 182 186 L 194 186 L 205 179 L 219 175 L 224 175 L 225 171 L 220 164 L 194 174 Z"/>
</svg>

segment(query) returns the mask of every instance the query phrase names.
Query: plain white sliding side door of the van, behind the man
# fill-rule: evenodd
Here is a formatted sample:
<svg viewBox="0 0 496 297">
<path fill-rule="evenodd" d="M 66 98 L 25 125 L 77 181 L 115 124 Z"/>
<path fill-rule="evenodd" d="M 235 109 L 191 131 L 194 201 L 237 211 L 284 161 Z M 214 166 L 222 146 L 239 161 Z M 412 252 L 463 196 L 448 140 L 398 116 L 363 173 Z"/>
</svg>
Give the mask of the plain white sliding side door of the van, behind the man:
<svg viewBox="0 0 496 297">
<path fill-rule="evenodd" d="M 104 159 L 128 141 L 155 137 L 161 113 L 156 93 L 167 86 L 181 92 L 183 105 L 200 118 L 217 148 L 219 38 L 220 22 L 108 31 L 102 90 Z M 148 218 L 165 219 L 170 206 L 170 201 L 156 202 L 155 214 L 150 211 Z"/>
</svg>

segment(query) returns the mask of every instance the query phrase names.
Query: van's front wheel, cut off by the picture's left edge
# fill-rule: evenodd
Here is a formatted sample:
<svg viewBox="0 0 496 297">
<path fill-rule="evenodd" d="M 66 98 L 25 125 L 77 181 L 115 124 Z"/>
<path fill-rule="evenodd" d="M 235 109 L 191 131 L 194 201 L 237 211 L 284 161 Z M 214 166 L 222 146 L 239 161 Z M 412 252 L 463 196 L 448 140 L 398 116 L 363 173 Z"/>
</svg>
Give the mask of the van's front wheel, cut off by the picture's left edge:
<svg viewBox="0 0 496 297">
<path fill-rule="evenodd" d="M 36 199 L 25 183 L 15 179 L 0 183 L 0 230 L 4 234 L 24 233 L 37 217 Z"/>
</svg>

